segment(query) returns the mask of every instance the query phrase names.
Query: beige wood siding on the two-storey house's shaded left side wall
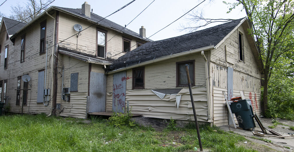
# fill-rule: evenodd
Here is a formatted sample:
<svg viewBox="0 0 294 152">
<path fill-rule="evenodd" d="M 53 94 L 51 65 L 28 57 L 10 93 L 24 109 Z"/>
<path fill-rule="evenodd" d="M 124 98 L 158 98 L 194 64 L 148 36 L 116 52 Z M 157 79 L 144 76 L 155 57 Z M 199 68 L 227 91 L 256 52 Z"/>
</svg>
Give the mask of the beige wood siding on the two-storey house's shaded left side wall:
<svg viewBox="0 0 294 152">
<path fill-rule="evenodd" d="M 52 14 L 55 16 L 55 13 Z M 46 41 L 48 41 L 48 47 L 53 44 L 53 29 L 54 20 L 48 16 L 41 17 L 35 23 L 31 24 L 25 30 L 20 32 L 15 37 L 15 44 L 13 45 L 10 40 L 6 40 L 6 32 L 0 34 L 1 40 L 1 59 L 0 59 L 0 80 L 7 79 L 7 96 L 9 96 L 8 103 L 11 106 L 10 112 L 20 113 L 23 91 L 21 91 L 20 105 L 16 105 L 16 87 L 17 77 L 29 74 L 31 77 L 31 87 L 28 86 L 27 106 L 24 106 L 24 113 L 50 113 L 49 107 L 44 106 L 43 103 L 37 102 L 37 89 L 38 89 L 38 70 L 45 69 L 46 65 L 46 53 L 39 54 L 40 49 L 40 23 L 46 20 Z M 4 27 L 4 26 L 2 26 Z M 2 29 L 5 30 L 5 29 Z M 21 36 L 25 34 L 25 61 L 20 63 L 21 56 Z M 5 46 L 9 44 L 8 50 L 8 68 L 4 70 L 4 53 Z M 51 49 L 48 49 L 48 64 L 47 64 L 47 83 L 46 87 L 51 88 L 51 65 L 50 55 Z M 23 89 L 23 81 L 21 81 L 21 89 Z"/>
</svg>

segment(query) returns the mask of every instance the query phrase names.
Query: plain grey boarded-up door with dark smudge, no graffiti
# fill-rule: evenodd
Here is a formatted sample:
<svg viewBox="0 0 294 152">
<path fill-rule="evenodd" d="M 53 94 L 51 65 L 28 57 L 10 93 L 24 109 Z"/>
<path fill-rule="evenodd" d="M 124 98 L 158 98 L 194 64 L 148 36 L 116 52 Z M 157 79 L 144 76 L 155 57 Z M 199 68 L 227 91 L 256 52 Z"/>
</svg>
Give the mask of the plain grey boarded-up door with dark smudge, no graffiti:
<svg viewBox="0 0 294 152">
<path fill-rule="evenodd" d="M 91 72 L 88 112 L 104 112 L 106 105 L 106 75 Z"/>
</svg>

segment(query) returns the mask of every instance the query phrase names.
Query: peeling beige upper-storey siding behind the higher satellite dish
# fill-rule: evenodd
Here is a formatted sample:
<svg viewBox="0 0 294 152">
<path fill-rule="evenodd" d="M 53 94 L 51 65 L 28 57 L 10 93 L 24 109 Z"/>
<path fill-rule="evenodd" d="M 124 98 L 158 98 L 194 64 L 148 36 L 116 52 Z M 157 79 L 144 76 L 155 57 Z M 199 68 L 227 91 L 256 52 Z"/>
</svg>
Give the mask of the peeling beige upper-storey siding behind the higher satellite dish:
<svg viewBox="0 0 294 152">
<path fill-rule="evenodd" d="M 121 34 L 118 31 L 104 28 L 99 25 L 93 25 L 87 28 L 86 30 L 83 30 L 81 32 L 81 35 L 78 38 L 76 36 L 71 37 L 72 35 L 78 33 L 74 30 L 75 24 L 82 25 L 83 29 L 86 29 L 86 27 L 93 25 L 93 23 L 91 22 L 88 22 L 80 18 L 76 18 L 72 15 L 68 15 L 62 12 L 59 13 L 58 42 L 63 41 L 59 44 L 59 46 L 66 47 L 71 50 L 76 50 L 83 53 L 91 54 L 91 55 L 96 55 L 96 27 L 99 27 L 103 30 L 108 31 L 107 32 L 107 41 L 109 41 L 107 42 L 107 57 L 108 58 L 109 57 L 118 58 L 125 54 L 123 52 L 123 37 L 132 39 L 131 46 L 133 47 L 131 48 L 131 50 L 136 49 L 136 41 L 141 42 L 141 40 L 139 39 Z M 67 39 L 68 37 L 71 37 L 71 38 Z"/>
</svg>

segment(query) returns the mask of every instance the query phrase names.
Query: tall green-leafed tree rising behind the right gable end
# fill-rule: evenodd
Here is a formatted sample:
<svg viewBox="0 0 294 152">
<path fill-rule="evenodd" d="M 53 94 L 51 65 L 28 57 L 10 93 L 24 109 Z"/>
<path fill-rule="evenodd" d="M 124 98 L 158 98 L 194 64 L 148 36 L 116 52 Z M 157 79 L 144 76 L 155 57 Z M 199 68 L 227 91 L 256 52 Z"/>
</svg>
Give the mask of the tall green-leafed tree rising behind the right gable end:
<svg viewBox="0 0 294 152">
<path fill-rule="evenodd" d="M 235 3 L 226 3 L 230 6 L 230 13 L 236 6 L 242 5 L 251 28 L 249 34 L 253 35 L 259 51 L 259 59 L 263 63 L 263 104 L 265 114 L 268 102 L 268 82 L 280 56 L 289 53 L 293 48 L 294 35 L 294 0 L 236 0 Z M 201 14 L 192 14 L 192 21 L 205 21 L 205 25 L 215 22 L 227 22 L 232 19 L 208 19 Z M 203 26 L 203 25 L 202 25 Z M 185 27 L 197 29 L 202 26 Z"/>
</svg>

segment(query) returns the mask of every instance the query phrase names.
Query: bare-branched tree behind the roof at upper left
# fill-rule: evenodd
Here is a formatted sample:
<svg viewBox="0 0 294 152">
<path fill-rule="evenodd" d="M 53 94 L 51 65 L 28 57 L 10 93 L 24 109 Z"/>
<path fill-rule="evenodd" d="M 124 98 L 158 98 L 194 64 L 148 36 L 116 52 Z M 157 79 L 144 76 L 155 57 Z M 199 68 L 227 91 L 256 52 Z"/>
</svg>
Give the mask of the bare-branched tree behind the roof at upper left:
<svg viewBox="0 0 294 152">
<path fill-rule="evenodd" d="M 49 7 L 47 5 L 51 2 L 52 0 L 27 0 L 27 3 L 25 3 L 24 6 L 17 3 L 16 6 L 11 6 L 11 14 L 9 18 L 29 23 L 46 10 Z"/>
</svg>

